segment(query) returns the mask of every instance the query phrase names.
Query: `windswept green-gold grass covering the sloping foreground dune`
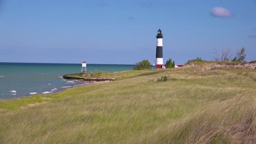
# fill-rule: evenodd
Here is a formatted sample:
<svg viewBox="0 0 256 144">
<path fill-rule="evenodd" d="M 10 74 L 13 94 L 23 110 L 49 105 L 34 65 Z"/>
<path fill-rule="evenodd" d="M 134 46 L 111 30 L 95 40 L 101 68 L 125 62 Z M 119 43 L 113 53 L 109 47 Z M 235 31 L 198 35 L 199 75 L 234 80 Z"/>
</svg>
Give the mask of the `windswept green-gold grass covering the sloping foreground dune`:
<svg viewBox="0 0 256 144">
<path fill-rule="evenodd" d="M 0 143 L 256 143 L 256 71 L 203 67 L 0 101 Z"/>
</svg>

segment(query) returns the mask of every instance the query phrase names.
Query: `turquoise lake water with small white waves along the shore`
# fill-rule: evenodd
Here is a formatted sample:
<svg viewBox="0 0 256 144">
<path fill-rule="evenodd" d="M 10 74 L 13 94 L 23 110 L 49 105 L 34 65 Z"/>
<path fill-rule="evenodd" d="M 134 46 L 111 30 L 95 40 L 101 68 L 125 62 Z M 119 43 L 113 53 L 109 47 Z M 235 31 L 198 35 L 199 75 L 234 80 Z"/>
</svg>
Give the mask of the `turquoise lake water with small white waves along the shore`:
<svg viewBox="0 0 256 144">
<path fill-rule="evenodd" d="M 132 70 L 133 65 L 87 64 L 88 71 Z M 86 85 L 63 80 L 65 74 L 80 73 L 82 64 L 0 63 L 0 99 L 13 99 L 33 94 L 47 94 L 65 88 Z"/>
</svg>

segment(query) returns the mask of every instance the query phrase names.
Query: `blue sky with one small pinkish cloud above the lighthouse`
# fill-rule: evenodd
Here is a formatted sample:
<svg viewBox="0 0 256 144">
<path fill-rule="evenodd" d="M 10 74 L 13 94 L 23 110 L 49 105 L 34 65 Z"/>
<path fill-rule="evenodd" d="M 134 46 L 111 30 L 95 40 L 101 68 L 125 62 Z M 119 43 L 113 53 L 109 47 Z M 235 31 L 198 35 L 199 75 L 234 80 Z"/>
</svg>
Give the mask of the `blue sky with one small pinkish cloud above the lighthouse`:
<svg viewBox="0 0 256 144">
<path fill-rule="evenodd" d="M 256 59 L 256 0 L 0 0 L 0 62 L 152 62 L 159 28 L 164 62 Z"/>
</svg>

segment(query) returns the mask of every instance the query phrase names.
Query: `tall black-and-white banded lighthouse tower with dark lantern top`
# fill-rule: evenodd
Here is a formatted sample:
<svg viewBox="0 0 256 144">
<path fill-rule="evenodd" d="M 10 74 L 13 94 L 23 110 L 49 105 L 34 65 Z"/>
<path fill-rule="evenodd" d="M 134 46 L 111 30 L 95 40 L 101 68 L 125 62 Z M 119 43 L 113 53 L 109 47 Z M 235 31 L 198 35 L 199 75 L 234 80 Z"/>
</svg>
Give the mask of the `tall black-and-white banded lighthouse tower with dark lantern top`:
<svg viewBox="0 0 256 144">
<path fill-rule="evenodd" d="M 159 28 L 158 35 L 156 35 L 156 69 L 165 68 L 164 60 L 162 59 L 162 37 L 162 31 Z"/>
</svg>

